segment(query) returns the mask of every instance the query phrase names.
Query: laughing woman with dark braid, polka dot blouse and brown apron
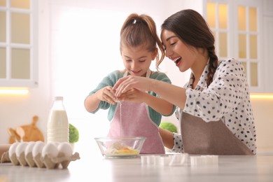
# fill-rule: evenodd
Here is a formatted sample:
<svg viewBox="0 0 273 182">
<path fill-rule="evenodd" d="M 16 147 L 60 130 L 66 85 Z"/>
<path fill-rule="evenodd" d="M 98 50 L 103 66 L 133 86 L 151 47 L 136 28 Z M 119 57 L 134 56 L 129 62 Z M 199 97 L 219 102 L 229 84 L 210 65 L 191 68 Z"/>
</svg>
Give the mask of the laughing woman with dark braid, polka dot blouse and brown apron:
<svg viewBox="0 0 273 182">
<path fill-rule="evenodd" d="M 219 61 L 214 36 L 195 10 L 181 10 L 162 24 L 165 55 L 180 71 L 191 70 L 185 87 L 129 76 L 113 87 L 119 99 L 128 90 L 153 91 L 178 106 L 181 135 L 160 130 L 174 152 L 255 155 L 255 123 L 243 66 L 235 59 Z"/>
</svg>

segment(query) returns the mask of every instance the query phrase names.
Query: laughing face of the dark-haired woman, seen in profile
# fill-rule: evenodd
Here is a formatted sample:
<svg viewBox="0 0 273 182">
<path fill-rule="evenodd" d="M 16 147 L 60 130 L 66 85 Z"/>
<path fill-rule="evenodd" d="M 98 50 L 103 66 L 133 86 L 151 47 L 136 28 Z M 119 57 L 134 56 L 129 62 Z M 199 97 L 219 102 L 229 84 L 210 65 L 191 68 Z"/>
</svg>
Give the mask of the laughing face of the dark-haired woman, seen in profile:
<svg viewBox="0 0 273 182">
<path fill-rule="evenodd" d="M 181 72 L 193 69 L 199 54 L 197 48 L 186 45 L 174 32 L 167 29 L 162 29 L 161 41 L 165 47 L 166 57 L 169 57 Z"/>
</svg>

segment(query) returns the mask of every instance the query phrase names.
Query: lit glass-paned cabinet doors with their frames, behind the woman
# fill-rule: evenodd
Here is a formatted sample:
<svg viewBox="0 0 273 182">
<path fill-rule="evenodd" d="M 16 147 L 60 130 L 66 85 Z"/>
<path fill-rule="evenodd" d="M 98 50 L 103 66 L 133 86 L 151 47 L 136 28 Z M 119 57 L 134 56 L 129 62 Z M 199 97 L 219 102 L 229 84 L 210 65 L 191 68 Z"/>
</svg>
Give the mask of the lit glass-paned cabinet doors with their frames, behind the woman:
<svg viewBox="0 0 273 182">
<path fill-rule="evenodd" d="M 261 20 L 256 1 L 207 1 L 207 22 L 216 39 L 219 59 L 235 57 L 244 66 L 251 92 L 261 92 Z"/>
</svg>

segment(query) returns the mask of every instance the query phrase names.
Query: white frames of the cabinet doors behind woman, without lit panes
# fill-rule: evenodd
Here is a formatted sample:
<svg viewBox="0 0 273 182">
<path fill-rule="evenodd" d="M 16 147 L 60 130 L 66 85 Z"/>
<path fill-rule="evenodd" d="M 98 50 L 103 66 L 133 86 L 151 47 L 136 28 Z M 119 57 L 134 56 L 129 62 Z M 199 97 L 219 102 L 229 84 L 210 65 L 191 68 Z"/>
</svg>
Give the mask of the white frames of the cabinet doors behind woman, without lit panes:
<svg viewBox="0 0 273 182">
<path fill-rule="evenodd" d="M 262 70 L 264 70 L 263 66 L 265 66 L 265 62 L 262 62 L 262 48 L 260 48 L 259 45 L 262 45 L 262 1 L 249 1 L 249 0 L 240 0 L 240 1 L 232 1 L 232 0 L 206 0 L 204 1 L 204 18 L 207 20 L 207 3 L 216 3 L 217 5 L 219 3 L 225 3 L 228 6 L 228 57 L 219 57 L 219 59 L 228 59 L 231 57 L 234 57 L 235 59 L 238 59 L 240 62 L 246 62 L 246 77 L 248 80 L 248 85 L 250 88 L 250 92 L 266 92 L 265 90 L 265 82 L 263 82 L 263 76 L 262 76 Z M 246 6 L 249 7 L 255 7 L 257 9 L 257 54 L 258 57 L 253 61 L 253 59 L 250 59 L 249 56 L 249 40 L 247 38 L 246 40 L 246 58 L 241 59 L 239 58 L 239 38 L 238 35 L 241 31 L 238 30 L 238 12 L 237 8 L 238 6 Z M 217 13 L 217 10 L 216 10 Z M 216 14 L 217 15 L 217 14 Z M 247 17 L 248 18 L 248 17 Z M 216 24 L 218 18 L 216 18 Z M 248 20 L 247 20 L 248 21 Z M 249 22 L 247 22 L 247 27 L 249 25 Z M 218 29 L 216 27 L 215 29 L 212 29 L 212 31 L 216 31 L 216 35 L 221 33 L 221 29 Z M 249 36 L 251 34 L 250 32 L 246 32 L 246 36 Z M 217 50 L 219 49 L 219 40 L 218 36 L 216 36 L 216 54 L 218 55 Z M 251 86 L 251 62 L 255 62 L 258 64 L 258 86 Z"/>
</svg>

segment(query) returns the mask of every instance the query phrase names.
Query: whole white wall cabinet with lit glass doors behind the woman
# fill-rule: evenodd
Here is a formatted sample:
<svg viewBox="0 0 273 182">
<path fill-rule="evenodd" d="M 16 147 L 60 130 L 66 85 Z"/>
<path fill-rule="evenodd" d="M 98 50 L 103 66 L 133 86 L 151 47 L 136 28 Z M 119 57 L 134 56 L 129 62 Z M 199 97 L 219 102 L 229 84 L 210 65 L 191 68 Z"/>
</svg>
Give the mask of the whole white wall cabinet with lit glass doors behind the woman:
<svg viewBox="0 0 273 182">
<path fill-rule="evenodd" d="M 273 92 L 273 1 L 183 2 L 184 8 L 197 10 L 207 20 L 219 59 L 234 57 L 243 64 L 251 92 Z"/>
</svg>

